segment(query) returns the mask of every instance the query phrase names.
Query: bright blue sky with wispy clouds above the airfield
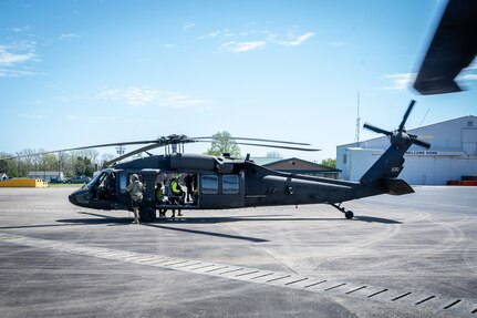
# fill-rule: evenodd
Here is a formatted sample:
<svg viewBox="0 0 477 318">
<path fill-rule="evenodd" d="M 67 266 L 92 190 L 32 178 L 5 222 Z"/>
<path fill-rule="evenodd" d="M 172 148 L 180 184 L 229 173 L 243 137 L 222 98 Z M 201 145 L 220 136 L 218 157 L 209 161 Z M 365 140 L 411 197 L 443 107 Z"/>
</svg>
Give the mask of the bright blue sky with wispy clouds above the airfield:
<svg viewBox="0 0 477 318">
<path fill-rule="evenodd" d="M 475 62 L 466 92 L 409 88 L 444 4 L 3 0 L 0 152 L 226 130 L 309 142 L 322 152 L 279 152 L 321 161 L 354 141 L 357 92 L 361 123 L 383 129 L 412 99 L 408 129 L 476 115 Z"/>
</svg>

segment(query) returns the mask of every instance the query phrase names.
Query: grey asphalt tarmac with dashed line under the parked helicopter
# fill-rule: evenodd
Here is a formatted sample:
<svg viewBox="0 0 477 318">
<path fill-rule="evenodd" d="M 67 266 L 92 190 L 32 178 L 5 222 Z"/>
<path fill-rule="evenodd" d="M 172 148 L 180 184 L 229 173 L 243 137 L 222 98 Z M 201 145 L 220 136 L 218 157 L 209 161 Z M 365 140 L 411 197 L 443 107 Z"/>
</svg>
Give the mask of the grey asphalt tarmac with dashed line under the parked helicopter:
<svg viewBox="0 0 477 318">
<path fill-rule="evenodd" d="M 132 225 L 0 188 L 0 317 L 477 317 L 477 187 L 415 189 Z"/>
</svg>

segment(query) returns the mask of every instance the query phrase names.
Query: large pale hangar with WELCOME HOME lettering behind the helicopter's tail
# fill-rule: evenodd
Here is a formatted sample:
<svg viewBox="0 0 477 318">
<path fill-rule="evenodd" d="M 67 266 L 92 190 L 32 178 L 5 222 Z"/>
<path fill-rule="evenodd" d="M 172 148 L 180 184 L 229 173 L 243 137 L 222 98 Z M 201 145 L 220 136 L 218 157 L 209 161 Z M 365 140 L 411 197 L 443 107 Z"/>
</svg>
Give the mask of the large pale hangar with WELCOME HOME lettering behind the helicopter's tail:
<svg viewBox="0 0 477 318">
<path fill-rule="evenodd" d="M 409 184 L 445 185 L 448 181 L 477 176 L 477 117 L 463 116 L 408 130 L 432 144 L 412 145 L 404 156 L 400 178 Z M 336 146 L 336 168 L 343 179 L 359 181 L 390 146 L 387 136 Z"/>
</svg>

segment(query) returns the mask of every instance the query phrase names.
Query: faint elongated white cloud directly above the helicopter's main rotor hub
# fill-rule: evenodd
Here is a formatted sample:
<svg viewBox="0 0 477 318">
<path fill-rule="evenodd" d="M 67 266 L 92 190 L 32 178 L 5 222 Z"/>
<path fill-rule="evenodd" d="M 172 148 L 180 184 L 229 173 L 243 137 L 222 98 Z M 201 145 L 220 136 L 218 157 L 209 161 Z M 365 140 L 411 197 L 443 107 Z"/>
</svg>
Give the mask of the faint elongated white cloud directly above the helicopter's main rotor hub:
<svg viewBox="0 0 477 318">
<path fill-rule="evenodd" d="M 141 88 L 105 90 L 98 96 L 107 101 L 124 101 L 133 107 L 145 105 L 190 107 L 210 102 L 209 100 L 193 99 L 174 92 Z"/>
</svg>

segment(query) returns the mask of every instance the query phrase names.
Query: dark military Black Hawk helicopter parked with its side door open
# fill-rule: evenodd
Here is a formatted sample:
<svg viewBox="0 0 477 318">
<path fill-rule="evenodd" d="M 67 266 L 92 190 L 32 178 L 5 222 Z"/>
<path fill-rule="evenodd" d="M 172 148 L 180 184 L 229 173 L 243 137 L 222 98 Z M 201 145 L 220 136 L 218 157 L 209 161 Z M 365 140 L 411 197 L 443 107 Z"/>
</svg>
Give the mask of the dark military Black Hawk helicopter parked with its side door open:
<svg viewBox="0 0 477 318">
<path fill-rule="evenodd" d="M 136 151 L 124 154 L 110 163 L 87 185 L 72 193 L 69 197 L 74 205 L 95 209 L 131 209 L 131 198 L 126 192 L 129 176 L 137 174 L 144 182 L 146 191 L 139 207 L 143 222 L 154 222 L 157 211 L 162 215 L 167 209 L 226 209 L 273 205 L 329 204 L 352 218 L 353 213 L 341 206 L 343 202 L 374 196 L 380 194 L 403 195 L 413 193 L 413 188 L 403 179 L 398 179 L 403 170 L 404 154 L 416 144 L 426 148 L 431 144 L 417 140 L 416 135 L 406 133 L 405 123 L 414 106 L 412 101 L 398 129 L 385 131 L 373 125 L 364 124 L 365 129 L 383 133 L 390 137 L 391 145 L 386 152 L 371 166 L 359 182 L 332 179 L 325 177 L 272 171 L 253 163 L 250 156 L 235 158 L 224 156 L 186 154 L 177 152 L 186 143 L 210 141 L 211 137 L 187 137 L 170 135 L 154 141 L 138 141 L 127 143 L 103 144 L 87 147 L 69 148 L 81 150 L 98 146 L 145 144 Z M 300 151 L 317 151 L 298 147 L 309 145 L 294 142 L 279 142 L 258 139 L 235 140 L 243 141 L 238 144 L 272 146 Z M 267 142 L 268 144 L 258 144 Z M 281 145 L 278 145 L 281 143 Z M 284 145 L 288 144 L 288 145 Z M 147 152 L 156 147 L 170 151 L 164 155 L 151 155 L 128 162 L 116 163 L 132 155 Z M 191 203 L 180 201 L 158 201 L 155 187 L 158 181 L 167 181 L 176 174 L 190 174 L 196 181 L 197 192 Z M 173 196 L 166 191 L 165 195 Z"/>
</svg>

